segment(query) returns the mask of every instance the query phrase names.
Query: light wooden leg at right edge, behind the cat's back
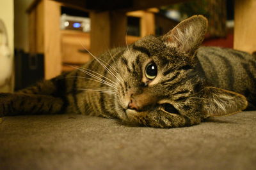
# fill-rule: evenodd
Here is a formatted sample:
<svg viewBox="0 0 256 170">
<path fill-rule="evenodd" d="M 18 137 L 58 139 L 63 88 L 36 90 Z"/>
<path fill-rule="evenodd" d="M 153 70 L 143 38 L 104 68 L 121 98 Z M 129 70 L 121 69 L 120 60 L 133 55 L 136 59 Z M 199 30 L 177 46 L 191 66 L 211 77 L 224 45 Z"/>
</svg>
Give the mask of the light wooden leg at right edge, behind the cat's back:
<svg viewBox="0 0 256 170">
<path fill-rule="evenodd" d="M 234 48 L 256 52 L 256 1 L 235 1 Z"/>
</svg>

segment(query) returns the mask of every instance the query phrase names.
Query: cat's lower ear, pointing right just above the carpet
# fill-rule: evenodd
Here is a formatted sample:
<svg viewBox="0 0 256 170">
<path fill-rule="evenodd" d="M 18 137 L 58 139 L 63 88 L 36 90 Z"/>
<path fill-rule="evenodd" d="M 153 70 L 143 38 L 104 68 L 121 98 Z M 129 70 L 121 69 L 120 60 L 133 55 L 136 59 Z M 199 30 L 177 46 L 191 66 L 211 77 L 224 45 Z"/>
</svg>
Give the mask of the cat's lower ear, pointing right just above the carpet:
<svg viewBox="0 0 256 170">
<path fill-rule="evenodd" d="M 232 115 L 244 110 L 248 104 L 243 95 L 216 87 L 205 87 L 201 97 L 204 98 L 203 112 L 209 117 Z"/>
</svg>

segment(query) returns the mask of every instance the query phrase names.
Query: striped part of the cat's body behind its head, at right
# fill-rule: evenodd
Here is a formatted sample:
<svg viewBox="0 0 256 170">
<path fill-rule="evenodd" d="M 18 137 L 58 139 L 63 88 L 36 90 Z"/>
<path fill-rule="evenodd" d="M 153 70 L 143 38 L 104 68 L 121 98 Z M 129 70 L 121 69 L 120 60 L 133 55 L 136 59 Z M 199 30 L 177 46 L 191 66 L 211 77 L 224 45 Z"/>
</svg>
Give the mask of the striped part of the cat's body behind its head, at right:
<svg viewBox="0 0 256 170">
<path fill-rule="evenodd" d="M 207 82 L 246 96 L 248 110 L 256 110 L 256 57 L 230 48 L 200 47 L 196 55 Z M 202 71 L 203 70 L 203 71 Z"/>
</svg>

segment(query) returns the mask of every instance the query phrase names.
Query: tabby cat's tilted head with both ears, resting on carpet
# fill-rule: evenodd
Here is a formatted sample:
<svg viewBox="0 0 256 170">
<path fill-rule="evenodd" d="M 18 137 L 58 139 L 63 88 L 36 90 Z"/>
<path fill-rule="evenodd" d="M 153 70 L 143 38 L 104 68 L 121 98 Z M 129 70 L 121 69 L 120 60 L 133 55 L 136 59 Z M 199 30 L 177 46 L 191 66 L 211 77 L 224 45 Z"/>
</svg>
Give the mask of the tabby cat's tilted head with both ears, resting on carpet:
<svg viewBox="0 0 256 170">
<path fill-rule="evenodd" d="M 246 108 L 246 98 L 207 86 L 195 66 L 207 19 L 193 16 L 160 38 L 146 36 L 119 60 L 118 114 L 150 127 L 182 127 Z"/>
</svg>

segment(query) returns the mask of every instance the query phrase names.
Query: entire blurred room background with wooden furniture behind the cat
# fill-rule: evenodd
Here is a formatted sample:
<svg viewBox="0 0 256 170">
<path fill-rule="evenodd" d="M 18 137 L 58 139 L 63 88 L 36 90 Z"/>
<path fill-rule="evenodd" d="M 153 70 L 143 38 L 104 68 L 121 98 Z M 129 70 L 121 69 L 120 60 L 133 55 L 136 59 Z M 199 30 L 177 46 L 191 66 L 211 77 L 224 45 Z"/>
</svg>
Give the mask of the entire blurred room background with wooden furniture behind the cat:
<svg viewBox="0 0 256 170">
<path fill-rule="evenodd" d="M 161 36 L 192 15 L 209 20 L 203 45 L 252 53 L 255 11 L 256 0 L 1 0 L 0 92 L 82 66 L 92 59 L 88 50 L 99 55 L 148 34 Z"/>
</svg>

